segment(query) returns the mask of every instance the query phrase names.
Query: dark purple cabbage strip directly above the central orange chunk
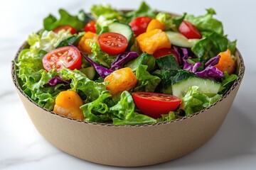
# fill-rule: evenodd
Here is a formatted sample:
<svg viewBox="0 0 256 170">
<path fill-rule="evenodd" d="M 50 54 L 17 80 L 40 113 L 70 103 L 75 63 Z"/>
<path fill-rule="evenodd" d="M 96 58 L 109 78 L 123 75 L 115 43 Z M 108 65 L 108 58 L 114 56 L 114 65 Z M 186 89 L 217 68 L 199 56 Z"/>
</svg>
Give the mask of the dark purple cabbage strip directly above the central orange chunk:
<svg viewBox="0 0 256 170">
<path fill-rule="evenodd" d="M 117 55 L 114 62 L 111 63 L 110 70 L 114 71 L 116 69 L 121 69 L 126 62 L 132 61 L 137 57 L 139 57 L 139 54 L 137 52 L 122 52 Z"/>
</svg>

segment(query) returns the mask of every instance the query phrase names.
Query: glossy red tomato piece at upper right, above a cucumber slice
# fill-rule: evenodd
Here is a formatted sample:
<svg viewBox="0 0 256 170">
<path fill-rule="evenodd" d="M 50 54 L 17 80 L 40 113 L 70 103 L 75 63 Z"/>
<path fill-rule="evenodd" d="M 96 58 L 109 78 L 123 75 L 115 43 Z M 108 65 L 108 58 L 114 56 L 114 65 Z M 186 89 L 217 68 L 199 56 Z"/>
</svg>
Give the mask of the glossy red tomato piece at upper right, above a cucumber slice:
<svg viewBox="0 0 256 170">
<path fill-rule="evenodd" d="M 183 21 L 178 27 L 178 31 L 182 33 L 186 38 L 202 38 L 202 35 L 198 28 L 196 28 L 196 26 L 188 21 Z"/>
</svg>

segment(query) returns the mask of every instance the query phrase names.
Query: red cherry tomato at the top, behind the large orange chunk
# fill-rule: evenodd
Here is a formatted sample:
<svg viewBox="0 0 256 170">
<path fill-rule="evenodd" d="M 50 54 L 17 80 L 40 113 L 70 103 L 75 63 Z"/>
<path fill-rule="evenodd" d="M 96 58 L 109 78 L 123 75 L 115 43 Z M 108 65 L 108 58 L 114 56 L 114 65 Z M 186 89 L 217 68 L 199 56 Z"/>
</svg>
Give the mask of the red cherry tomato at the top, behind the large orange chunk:
<svg viewBox="0 0 256 170">
<path fill-rule="evenodd" d="M 146 32 L 146 28 L 151 20 L 152 18 L 150 18 L 149 16 L 139 16 L 137 18 L 134 18 L 129 23 L 129 26 L 131 26 L 135 37 Z"/>
</svg>

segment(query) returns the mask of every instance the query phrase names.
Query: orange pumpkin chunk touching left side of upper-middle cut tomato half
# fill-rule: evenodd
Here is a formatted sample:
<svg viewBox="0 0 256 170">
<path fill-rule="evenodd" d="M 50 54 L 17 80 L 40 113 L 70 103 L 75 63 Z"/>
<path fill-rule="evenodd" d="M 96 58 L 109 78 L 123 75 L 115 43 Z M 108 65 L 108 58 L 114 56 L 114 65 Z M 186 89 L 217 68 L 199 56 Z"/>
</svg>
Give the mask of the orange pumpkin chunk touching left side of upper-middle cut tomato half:
<svg viewBox="0 0 256 170">
<path fill-rule="evenodd" d="M 82 36 L 81 40 L 78 42 L 78 48 L 87 54 L 92 53 L 92 48 L 90 47 L 90 41 L 97 42 L 97 34 L 90 31 L 86 32 Z"/>
</svg>

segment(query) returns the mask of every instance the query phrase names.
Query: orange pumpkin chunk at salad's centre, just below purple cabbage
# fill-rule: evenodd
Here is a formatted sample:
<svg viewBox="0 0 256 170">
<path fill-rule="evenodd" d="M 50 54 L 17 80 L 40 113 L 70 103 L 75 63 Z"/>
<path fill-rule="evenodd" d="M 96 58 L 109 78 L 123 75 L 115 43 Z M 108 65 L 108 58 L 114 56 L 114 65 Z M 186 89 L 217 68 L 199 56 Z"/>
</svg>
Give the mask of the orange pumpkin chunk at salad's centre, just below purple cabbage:
<svg viewBox="0 0 256 170">
<path fill-rule="evenodd" d="M 129 91 L 134 88 L 138 80 L 132 72 L 132 69 L 125 67 L 112 72 L 104 81 L 109 82 L 109 84 L 107 84 L 107 90 L 111 92 L 112 96 L 115 96 L 119 92 Z"/>
</svg>

